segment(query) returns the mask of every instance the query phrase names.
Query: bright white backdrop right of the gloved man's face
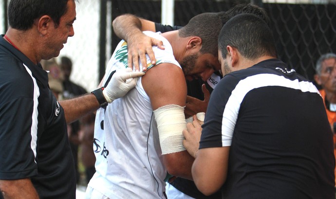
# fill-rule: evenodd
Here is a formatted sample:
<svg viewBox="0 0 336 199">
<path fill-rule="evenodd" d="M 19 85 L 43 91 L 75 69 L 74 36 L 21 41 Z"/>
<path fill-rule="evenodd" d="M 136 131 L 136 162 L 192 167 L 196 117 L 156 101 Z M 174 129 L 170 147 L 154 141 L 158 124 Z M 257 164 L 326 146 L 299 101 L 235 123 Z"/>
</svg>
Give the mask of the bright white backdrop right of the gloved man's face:
<svg viewBox="0 0 336 199">
<path fill-rule="evenodd" d="M 88 92 L 99 83 L 99 5 L 97 0 L 79 0 L 76 4 L 75 35 L 68 38 L 58 56 L 67 56 L 73 61 L 70 79 Z"/>
</svg>

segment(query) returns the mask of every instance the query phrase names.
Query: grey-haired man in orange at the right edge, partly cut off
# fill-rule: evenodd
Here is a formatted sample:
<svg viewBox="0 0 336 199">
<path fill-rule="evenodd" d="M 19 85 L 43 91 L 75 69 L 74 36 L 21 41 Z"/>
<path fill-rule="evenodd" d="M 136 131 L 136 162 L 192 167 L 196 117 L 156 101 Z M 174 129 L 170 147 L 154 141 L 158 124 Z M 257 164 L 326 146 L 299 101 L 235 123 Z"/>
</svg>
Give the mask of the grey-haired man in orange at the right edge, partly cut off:
<svg viewBox="0 0 336 199">
<path fill-rule="evenodd" d="M 323 98 L 328 120 L 334 133 L 334 154 L 336 157 L 336 54 L 321 55 L 316 62 L 315 70 L 314 80 L 322 88 L 319 93 Z"/>
</svg>

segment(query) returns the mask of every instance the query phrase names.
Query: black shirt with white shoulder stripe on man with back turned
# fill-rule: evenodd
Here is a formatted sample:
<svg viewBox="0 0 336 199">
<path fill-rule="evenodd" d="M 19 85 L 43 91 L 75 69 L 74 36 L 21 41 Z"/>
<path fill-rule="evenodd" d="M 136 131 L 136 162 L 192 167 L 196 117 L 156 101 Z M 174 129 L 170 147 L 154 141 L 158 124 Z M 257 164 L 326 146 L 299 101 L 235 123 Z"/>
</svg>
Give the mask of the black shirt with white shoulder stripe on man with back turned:
<svg viewBox="0 0 336 199">
<path fill-rule="evenodd" d="M 200 149 L 230 147 L 223 199 L 335 199 L 323 100 L 280 60 L 226 75 L 202 127 Z"/>
</svg>

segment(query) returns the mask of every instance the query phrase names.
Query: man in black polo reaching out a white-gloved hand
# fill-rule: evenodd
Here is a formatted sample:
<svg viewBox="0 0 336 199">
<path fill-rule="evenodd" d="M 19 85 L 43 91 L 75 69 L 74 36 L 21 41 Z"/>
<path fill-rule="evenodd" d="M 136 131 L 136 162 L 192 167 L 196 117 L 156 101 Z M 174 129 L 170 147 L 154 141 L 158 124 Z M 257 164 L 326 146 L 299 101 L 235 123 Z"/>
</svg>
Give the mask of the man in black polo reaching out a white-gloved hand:
<svg viewBox="0 0 336 199">
<path fill-rule="evenodd" d="M 107 87 L 57 101 L 41 59 L 74 35 L 75 0 L 11 0 L 0 37 L 0 198 L 75 199 L 67 123 L 123 96 L 138 72 L 116 72 Z M 134 78 L 133 80 L 135 80 Z"/>
</svg>

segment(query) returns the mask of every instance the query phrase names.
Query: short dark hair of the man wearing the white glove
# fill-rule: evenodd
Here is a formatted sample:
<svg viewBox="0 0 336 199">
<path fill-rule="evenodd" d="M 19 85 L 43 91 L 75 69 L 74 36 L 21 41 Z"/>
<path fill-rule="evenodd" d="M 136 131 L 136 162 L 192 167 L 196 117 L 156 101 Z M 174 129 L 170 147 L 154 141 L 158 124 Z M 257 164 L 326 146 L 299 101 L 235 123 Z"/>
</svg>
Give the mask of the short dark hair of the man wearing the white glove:
<svg viewBox="0 0 336 199">
<path fill-rule="evenodd" d="M 32 28 L 34 21 L 43 15 L 50 16 L 59 25 L 67 11 L 69 0 L 11 0 L 8 5 L 9 25 L 21 31 Z"/>
</svg>

